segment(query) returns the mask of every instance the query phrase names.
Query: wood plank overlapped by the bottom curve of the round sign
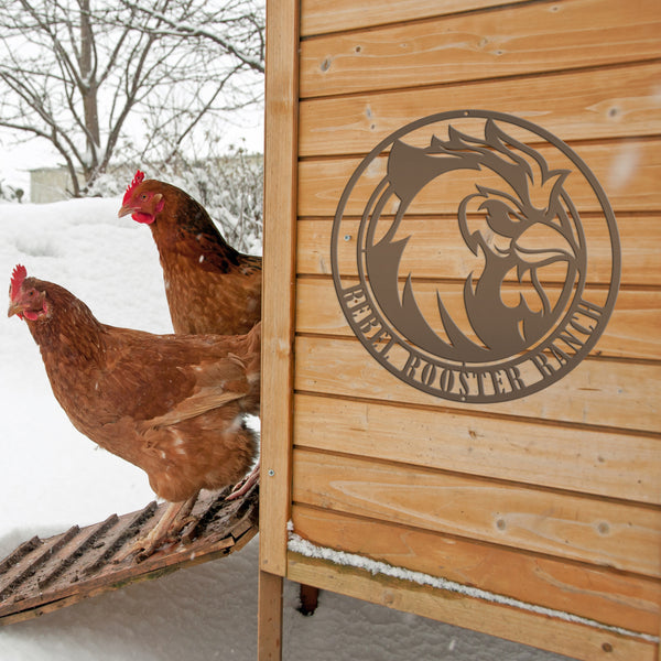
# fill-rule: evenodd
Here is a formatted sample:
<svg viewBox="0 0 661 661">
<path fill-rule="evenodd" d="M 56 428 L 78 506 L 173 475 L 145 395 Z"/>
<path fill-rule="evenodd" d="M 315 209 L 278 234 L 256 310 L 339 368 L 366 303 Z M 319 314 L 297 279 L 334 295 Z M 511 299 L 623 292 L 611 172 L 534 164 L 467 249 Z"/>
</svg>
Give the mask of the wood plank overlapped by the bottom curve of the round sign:
<svg viewBox="0 0 661 661">
<path fill-rule="evenodd" d="M 658 364 L 587 358 L 564 378 L 534 394 L 505 403 L 466 404 L 409 386 L 378 364 L 357 339 L 301 336 L 296 338 L 295 351 L 299 391 L 650 434 L 661 430 Z"/>
</svg>

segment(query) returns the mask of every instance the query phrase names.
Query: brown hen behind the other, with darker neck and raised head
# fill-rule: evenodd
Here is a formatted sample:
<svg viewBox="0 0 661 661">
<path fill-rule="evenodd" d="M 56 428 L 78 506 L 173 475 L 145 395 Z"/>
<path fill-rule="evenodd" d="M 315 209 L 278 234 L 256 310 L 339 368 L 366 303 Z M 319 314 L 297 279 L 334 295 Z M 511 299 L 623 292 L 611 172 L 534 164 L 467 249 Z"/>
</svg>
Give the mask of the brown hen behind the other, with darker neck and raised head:
<svg viewBox="0 0 661 661">
<path fill-rule="evenodd" d="M 261 258 L 229 246 L 205 208 L 184 191 L 138 171 L 119 217 L 149 225 L 161 259 L 175 333 L 248 333 L 261 318 Z M 259 478 L 259 462 L 241 488 Z"/>
</svg>

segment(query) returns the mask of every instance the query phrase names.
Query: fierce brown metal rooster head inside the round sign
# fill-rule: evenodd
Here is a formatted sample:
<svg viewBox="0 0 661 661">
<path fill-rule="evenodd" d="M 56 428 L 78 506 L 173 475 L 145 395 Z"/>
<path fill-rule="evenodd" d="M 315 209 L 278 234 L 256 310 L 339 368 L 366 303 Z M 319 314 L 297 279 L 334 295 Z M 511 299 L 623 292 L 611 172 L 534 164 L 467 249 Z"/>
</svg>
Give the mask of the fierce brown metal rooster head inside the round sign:
<svg viewBox="0 0 661 661">
<path fill-rule="evenodd" d="M 411 237 L 395 239 L 395 234 L 407 209 L 425 185 L 456 170 L 495 173 L 502 180 L 497 187 L 476 184 L 457 209 L 460 239 L 483 261 L 481 271 L 466 278 L 463 292 L 472 335 L 478 342 L 453 319 L 436 292 L 442 337 L 418 305 L 412 274 L 401 291 L 399 284 L 400 262 Z M 565 310 L 585 271 L 584 239 L 570 218 L 577 215 L 563 188 L 568 173 L 550 170 L 538 151 L 507 136 L 491 119 L 485 123 L 484 140 L 449 127 L 447 141 L 434 136 L 426 148 L 394 141 L 387 176 L 364 214 L 370 286 L 390 322 L 420 348 L 459 361 L 498 360 L 541 339 Z M 379 223 L 386 223 L 380 216 L 392 196 L 399 199 L 394 219 L 384 234 L 377 232 Z M 556 262 L 563 263 L 566 278 L 560 294 L 551 296 L 539 271 Z M 517 283 L 513 303 L 511 288 L 505 295 L 506 280 Z"/>
</svg>

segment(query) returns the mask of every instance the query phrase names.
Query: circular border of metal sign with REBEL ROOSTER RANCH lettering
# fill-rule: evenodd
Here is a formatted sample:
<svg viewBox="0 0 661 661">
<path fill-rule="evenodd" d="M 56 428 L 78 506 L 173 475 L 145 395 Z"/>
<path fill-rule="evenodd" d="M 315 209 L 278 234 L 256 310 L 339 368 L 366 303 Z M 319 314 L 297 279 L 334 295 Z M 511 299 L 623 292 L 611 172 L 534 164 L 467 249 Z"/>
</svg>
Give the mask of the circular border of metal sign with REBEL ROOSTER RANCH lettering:
<svg viewBox="0 0 661 661">
<path fill-rule="evenodd" d="M 596 305 L 585 301 L 581 295 L 582 292 L 577 291 L 567 312 L 555 324 L 555 329 L 550 335 L 545 336 L 541 343 L 530 350 L 502 360 L 497 365 L 458 364 L 457 361 L 433 357 L 398 335 L 392 323 L 380 312 L 379 305 L 370 292 L 369 281 L 365 279 L 362 264 L 360 263 L 362 248 L 359 241 L 357 241 L 356 247 L 358 272 L 362 275 L 359 284 L 344 285 L 339 273 L 339 241 L 350 236 L 350 230 L 347 230 L 344 225 L 345 208 L 360 176 L 372 161 L 381 155 L 395 140 L 426 124 L 458 118 L 478 118 L 514 124 L 539 136 L 556 148 L 576 166 L 576 170 L 592 187 L 602 206 L 610 237 L 611 274 L 605 304 Z M 379 185 L 382 182 L 383 180 L 380 180 Z M 575 218 L 575 223 L 578 226 L 581 225 L 578 217 Z M 364 229 L 361 228 L 359 234 L 364 235 Z M 578 227 L 578 229 L 582 230 L 582 227 Z M 330 238 L 330 263 L 335 291 L 343 313 L 362 346 L 382 367 L 405 383 L 423 392 L 452 401 L 489 403 L 510 401 L 543 390 L 566 376 L 588 355 L 604 332 L 615 307 L 620 284 L 621 251 L 615 214 L 606 193 L 594 173 L 576 152 L 556 136 L 528 120 L 505 112 L 470 109 L 438 112 L 418 119 L 381 140 L 369 152 L 351 174 L 337 205 Z M 355 280 L 356 275 L 350 278 Z M 367 314 L 370 319 L 369 323 L 365 323 L 365 314 L 360 317 L 357 316 L 357 310 L 369 313 Z M 369 337 L 366 328 L 373 332 Z M 560 349 L 553 343 L 559 340 L 559 335 L 562 333 L 564 333 L 565 339 L 563 348 Z M 566 338 L 570 338 L 570 340 L 566 342 Z M 549 353 L 556 358 L 561 357 L 555 365 L 549 361 Z M 394 358 L 391 361 L 391 355 L 394 354 L 397 354 L 397 364 Z M 402 356 L 404 357 L 403 365 Z M 534 373 L 538 380 L 530 381 L 527 376 L 530 373 Z"/>
</svg>

